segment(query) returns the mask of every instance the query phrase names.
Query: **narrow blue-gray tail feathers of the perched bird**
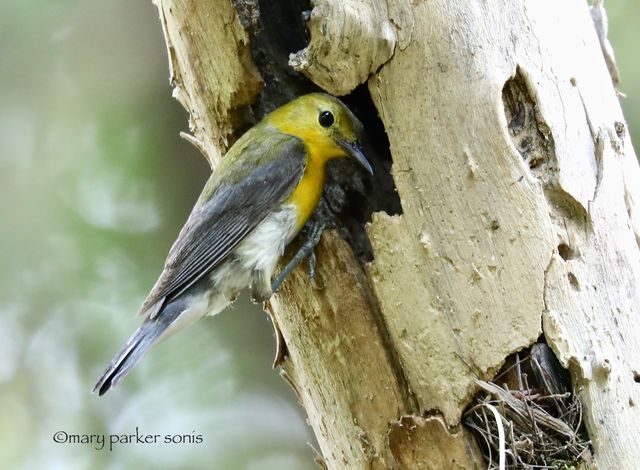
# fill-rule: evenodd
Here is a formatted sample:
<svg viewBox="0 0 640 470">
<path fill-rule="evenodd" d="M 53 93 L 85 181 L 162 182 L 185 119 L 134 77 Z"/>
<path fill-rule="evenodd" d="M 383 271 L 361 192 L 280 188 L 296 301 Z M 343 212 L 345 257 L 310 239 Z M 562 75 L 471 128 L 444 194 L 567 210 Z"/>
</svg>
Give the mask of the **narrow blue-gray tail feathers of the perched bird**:
<svg viewBox="0 0 640 470">
<path fill-rule="evenodd" d="M 168 326 L 169 323 L 164 321 L 146 319 L 129 338 L 122 351 L 111 361 L 107 370 L 96 382 L 93 391 L 98 395 L 104 395 L 109 389 L 118 385 L 158 341 Z"/>
</svg>

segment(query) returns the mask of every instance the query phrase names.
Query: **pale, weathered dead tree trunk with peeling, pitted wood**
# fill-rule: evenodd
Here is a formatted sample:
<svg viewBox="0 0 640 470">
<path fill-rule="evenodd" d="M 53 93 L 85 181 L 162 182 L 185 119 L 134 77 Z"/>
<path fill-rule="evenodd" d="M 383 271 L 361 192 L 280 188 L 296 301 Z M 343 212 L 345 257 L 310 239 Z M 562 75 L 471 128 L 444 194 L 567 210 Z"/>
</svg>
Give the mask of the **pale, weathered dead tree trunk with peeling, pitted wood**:
<svg viewBox="0 0 640 470">
<path fill-rule="evenodd" d="M 640 169 L 585 2 L 315 0 L 290 65 L 272 41 L 296 2 L 156 3 L 213 166 L 309 88 L 292 68 L 337 95 L 366 82 L 384 124 L 402 213 L 373 215 L 373 260 L 326 233 L 324 289 L 300 268 L 270 302 L 328 468 L 485 468 L 460 424 L 474 380 L 541 334 L 598 468 L 636 468 Z"/>
</svg>

